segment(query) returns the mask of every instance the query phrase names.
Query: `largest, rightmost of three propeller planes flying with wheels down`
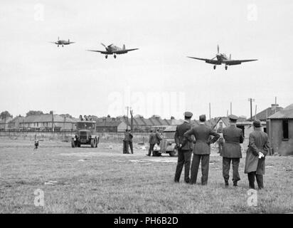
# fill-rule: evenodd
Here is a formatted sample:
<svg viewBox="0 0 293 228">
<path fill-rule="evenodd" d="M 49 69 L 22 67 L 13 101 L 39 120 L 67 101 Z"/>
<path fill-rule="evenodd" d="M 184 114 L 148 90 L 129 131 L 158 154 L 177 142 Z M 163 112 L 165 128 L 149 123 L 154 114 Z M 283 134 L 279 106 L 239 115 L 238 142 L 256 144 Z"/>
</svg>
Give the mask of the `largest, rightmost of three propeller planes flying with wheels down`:
<svg viewBox="0 0 293 228">
<path fill-rule="evenodd" d="M 228 69 L 229 65 L 239 65 L 241 63 L 244 62 L 250 62 L 250 61 L 257 61 L 257 59 L 245 59 L 245 60 L 233 60 L 231 59 L 231 54 L 230 57 L 228 58 L 225 53 L 220 53 L 219 52 L 219 46 L 217 46 L 218 48 L 218 53 L 215 54 L 215 57 L 212 59 L 208 59 L 208 58 L 196 58 L 196 57 L 189 57 L 188 58 L 195 58 L 195 59 L 199 59 L 199 60 L 203 60 L 206 61 L 206 63 L 211 63 L 213 64 L 213 69 L 215 70 L 215 66 L 217 65 L 221 65 L 222 63 L 225 64 L 225 70 Z M 215 60 L 215 58 L 217 58 Z"/>
</svg>

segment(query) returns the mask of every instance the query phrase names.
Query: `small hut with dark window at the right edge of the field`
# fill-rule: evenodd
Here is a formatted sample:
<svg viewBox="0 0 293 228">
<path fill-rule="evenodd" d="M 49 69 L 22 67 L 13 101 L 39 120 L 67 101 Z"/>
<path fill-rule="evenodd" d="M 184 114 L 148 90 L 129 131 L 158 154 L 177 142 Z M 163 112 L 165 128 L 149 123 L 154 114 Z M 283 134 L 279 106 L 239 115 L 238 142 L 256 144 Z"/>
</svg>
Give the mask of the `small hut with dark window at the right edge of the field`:
<svg viewBox="0 0 293 228">
<path fill-rule="evenodd" d="M 267 120 L 267 133 L 272 152 L 293 155 L 293 104 L 270 115 Z"/>
</svg>

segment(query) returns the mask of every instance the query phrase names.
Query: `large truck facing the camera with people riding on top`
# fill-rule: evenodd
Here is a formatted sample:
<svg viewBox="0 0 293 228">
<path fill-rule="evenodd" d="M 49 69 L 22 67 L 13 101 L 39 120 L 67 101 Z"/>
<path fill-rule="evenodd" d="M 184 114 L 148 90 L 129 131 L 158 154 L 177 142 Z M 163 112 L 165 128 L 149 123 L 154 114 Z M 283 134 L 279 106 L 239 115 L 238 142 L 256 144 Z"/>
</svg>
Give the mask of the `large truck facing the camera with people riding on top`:
<svg viewBox="0 0 293 228">
<path fill-rule="evenodd" d="M 99 140 L 100 137 L 97 135 L 95 121 L 79 120 L 76 123 L 76 133 L 71 139 L 71 147 L 80 147 L 80 145 L 97 147 Z"/>
</svg>

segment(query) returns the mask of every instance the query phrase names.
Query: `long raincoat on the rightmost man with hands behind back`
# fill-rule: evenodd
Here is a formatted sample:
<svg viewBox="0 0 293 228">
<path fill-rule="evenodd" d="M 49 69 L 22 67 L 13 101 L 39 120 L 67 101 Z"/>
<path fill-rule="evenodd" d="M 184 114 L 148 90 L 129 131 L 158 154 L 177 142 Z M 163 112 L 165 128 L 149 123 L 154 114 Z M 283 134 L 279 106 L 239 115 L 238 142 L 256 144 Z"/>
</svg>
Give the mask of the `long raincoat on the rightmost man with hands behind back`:
<svg viewBox="0 0 293 228">
<path fill-rule="evenodd" d="M 244 172 L 256 172 L 258 175 L 265 174 L 265 157 L 258 158 L 258 152 L 267 155 L 270 150 L 270 141 L 267 133 L 255 129 L 249 135 L 249 145 L 245 159 Z"/>
</svg>

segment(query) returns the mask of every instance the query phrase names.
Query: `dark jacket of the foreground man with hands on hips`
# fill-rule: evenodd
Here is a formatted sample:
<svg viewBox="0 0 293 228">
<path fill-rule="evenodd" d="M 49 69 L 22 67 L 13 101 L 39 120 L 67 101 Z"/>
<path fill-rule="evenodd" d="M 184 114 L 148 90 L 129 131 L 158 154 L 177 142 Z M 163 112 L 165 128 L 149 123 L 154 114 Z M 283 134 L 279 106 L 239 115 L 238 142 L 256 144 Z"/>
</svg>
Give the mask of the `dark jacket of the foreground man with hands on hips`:
<svg viewBox="0 0 293 228">
<path fill-rule="evenodd" d="M 218 133 L 211 130 L 211 128 L 208 128 L 206 125 L 201 124 L 198 127 L 191 128 L 191 130 L 188 130 L 186 133 L 184 133 L 184 140 L 182 145 L 185 145 L 191 135 L 194 135 L 196 138 L 196 143 L 193 146 L 193 154 L 196 155 L 211 154 L 211 143 L 214 143 L 218 140 L 218 138 L 220 138 Z M 214 136 L 212 140 L 210 140 L 210 135 Z"/>
</svg>

